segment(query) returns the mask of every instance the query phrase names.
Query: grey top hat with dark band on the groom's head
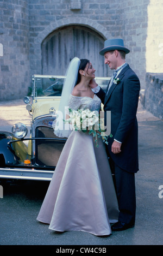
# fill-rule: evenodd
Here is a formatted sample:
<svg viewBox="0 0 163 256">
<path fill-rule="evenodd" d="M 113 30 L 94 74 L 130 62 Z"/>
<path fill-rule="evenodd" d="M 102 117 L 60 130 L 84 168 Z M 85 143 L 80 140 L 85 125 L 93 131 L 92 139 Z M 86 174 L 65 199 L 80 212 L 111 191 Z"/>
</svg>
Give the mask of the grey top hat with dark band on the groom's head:
<svg viewBox="0 0 163 256">
<path fill-rule="evenodd" d="M 105 40 L 104 48 L 99 52 L 99 54 L 104 55 L 105 52 L 112 50 L 121 50 L 126 53 L 130 52 L 130 50 L 124 47 L 123 39 L 108 39 Z"/>
</svg>

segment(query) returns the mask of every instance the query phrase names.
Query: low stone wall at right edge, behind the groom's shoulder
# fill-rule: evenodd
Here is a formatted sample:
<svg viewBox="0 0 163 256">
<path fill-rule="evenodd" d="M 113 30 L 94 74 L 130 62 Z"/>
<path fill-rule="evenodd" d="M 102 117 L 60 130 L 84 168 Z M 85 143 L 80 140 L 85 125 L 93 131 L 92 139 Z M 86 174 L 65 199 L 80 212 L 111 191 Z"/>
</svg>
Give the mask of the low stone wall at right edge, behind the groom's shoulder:
<svg viewBox="0 0 163 256">
<path fill-rule="evenodd" d="M 143 107 L 163 120 L 163 74 L 147 73 L 146 90 L 141 94 Z"/>
</svg>

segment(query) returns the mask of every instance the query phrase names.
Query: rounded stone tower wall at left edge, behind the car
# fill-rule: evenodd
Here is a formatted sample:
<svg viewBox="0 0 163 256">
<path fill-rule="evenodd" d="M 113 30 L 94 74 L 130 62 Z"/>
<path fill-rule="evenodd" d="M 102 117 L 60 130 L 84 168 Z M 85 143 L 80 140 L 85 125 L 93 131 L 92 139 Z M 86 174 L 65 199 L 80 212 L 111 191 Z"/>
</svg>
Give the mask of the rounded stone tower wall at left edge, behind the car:
<svg viewBox="0 0 163 256">
<path fill-rule="evenodd" d="M 28 0 L 0 1 L 0 99 L 18 99 L 29 86 Z"/>
</svg>

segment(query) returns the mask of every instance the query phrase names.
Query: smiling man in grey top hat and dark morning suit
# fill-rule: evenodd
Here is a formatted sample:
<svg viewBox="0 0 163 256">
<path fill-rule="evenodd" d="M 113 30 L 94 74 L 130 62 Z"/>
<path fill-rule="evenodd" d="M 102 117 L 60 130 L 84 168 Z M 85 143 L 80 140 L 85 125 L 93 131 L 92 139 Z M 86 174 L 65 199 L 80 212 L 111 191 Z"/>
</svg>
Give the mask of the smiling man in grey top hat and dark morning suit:
<svg viewBox="0 0 163 256">
<path fill-rule="evenodd" d="M 122 39 L 109 39 L 99 52 L 105 58 L 111 70 L 114 70 L 106 92 L 95 80 L 92 91 L 102 100 L 104 111 L 111 111 L 111 134 L 108 137 L 110 167 L 115 174 L 115 188 L 119 206 L 118 222 L 112 225 L 112 231 L 121 231 L 135 225 L 135 176 L 139 170 L 137 149 L 136 111 L 139 100 L 140 81 L 126 63 L 126 54 Z"/>
</svg>

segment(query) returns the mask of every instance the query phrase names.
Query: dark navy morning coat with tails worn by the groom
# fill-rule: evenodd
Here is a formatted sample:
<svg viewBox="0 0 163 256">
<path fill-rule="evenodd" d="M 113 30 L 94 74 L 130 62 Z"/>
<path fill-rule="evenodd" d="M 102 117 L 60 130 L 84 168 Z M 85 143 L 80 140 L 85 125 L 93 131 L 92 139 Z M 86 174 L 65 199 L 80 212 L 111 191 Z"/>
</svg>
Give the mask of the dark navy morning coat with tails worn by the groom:
<svg viewBox="0 0 163 256">
<path fill-rule="evenodd" d="M 122 69 L 118 78 L 120 82 L 112 84 L 107 96 L 102 88 L 97 93 L 104 104 L 104 111 L 111 111 L 111 134 L 113 137 L 108 139 L 108 151 L 112 160 L 121 169 L 137 172 L 139 164 L 136 111 L 140 81 L 129 65 Z M 122 142 L 121 153 L 111 152 L 114 139 Z"/>
</svg>

